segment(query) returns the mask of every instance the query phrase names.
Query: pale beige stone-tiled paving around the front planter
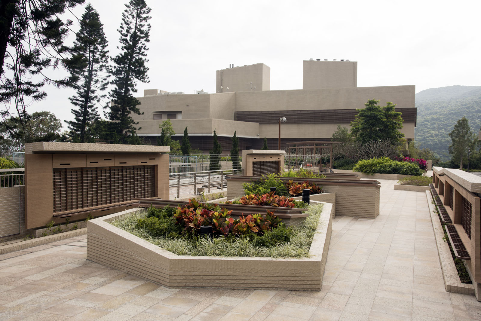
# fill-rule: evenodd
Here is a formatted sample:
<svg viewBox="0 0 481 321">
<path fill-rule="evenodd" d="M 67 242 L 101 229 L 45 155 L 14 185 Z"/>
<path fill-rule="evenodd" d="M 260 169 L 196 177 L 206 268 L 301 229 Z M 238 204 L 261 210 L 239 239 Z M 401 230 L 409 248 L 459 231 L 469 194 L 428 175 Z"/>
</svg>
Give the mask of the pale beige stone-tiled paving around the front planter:
<svg viewBox="0 0 481 321">
<path fill-rule="evenodd" d="M 0 255 L 0 320 L 481 320 L 444 290 L 425 193 L 379 181 L 376 219 L 334 219 L 319 292 L 169 289 L 88 261 L 82 235 Z"/>
</svg>

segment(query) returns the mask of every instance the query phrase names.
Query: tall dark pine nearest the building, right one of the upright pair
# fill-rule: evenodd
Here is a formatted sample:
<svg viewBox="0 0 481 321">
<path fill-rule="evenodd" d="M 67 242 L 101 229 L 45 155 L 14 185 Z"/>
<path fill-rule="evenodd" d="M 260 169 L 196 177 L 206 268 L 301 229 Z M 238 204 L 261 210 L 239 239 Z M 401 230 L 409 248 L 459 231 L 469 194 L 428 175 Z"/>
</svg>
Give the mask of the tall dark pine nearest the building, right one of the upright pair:
<svg viewBox="0 0 481 321">
<path fill-rule="evenodd" d="M 122 144 L 128 141 L 127 135 L 134 135 L 137 130 L 137 123 L 129 115 L 131 112 L 140 114 L 137 108 L 140 102 L 133 96 L 137 92 L 135 81 L 148 82 L 149 79 L 145 56 L 151 28 L 147 23 L 151 18 L 151 9 L 145 0 L 130 0 L 125 6 L 127 9 L 122 13 L 122 23 L 118 29 L 122 52 L 113 59 L 112 73 L 115 79 L 111 84 L 114 89 L 110 92 L 112 102 L 107 112 L 108 118 L 117 124 L 116 132 Z"/>
</svg>

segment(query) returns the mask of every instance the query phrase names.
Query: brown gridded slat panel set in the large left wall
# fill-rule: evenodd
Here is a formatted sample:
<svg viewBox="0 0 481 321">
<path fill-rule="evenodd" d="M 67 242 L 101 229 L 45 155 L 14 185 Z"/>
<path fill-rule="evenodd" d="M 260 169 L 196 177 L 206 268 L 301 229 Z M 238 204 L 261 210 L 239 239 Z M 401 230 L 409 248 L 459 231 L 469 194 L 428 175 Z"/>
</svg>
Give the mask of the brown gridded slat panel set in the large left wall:
<svg viewBox="0 0 481 321">
<path fill-rule="evenodd" d="M 154 166 L 53 170 L 53 212 L 152 198 Z"/>
</svg>

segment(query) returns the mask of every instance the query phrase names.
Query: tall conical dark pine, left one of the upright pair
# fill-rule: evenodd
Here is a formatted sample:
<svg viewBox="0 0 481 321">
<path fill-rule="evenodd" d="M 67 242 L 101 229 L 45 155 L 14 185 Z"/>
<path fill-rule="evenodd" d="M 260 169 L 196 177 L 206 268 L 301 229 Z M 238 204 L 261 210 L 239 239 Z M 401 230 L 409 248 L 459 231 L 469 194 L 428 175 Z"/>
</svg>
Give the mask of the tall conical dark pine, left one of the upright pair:
<svg viewBox="0 0 481 321">
<path fill-rule="evenodd" d="M 81 57 L 79 69 L 72 72 L 72 76 L 79 77 L 77 95 L 70 98 L 75 116 L 74 121 L 69 121 L 68 128 L 73 141 L 85 143 L 93 142 L 92 139 L 94 123 L 99 120 L 95 102 L 100 102 L 106 95 L 99 95 L 97 90 L 103 91 L 107 88 L 107 79 L 102 72 L 105 72 L 108 64 L 107 39 L 103 32 L 103 25 L 100 22 L 99 13 L 88 4 L 85 13 L 80 21 L 80 30 L 74 42 L 74 54 Z"/>
</svg>

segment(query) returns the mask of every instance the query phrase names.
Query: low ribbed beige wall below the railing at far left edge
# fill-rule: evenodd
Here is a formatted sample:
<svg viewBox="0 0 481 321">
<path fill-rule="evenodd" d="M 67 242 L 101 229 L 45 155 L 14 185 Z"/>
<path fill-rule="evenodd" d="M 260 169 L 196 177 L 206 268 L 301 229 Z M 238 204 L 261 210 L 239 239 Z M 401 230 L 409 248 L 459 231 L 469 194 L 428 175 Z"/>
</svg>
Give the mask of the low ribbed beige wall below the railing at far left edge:
<svg viewBox="0 0 481 321">
<path fill-rule="evenodd" d="M 0 238 L 25 234 L 25 186 L 0 188 Z M 12 236 L 12 237 L 9 237 Z"/>
</svg>

